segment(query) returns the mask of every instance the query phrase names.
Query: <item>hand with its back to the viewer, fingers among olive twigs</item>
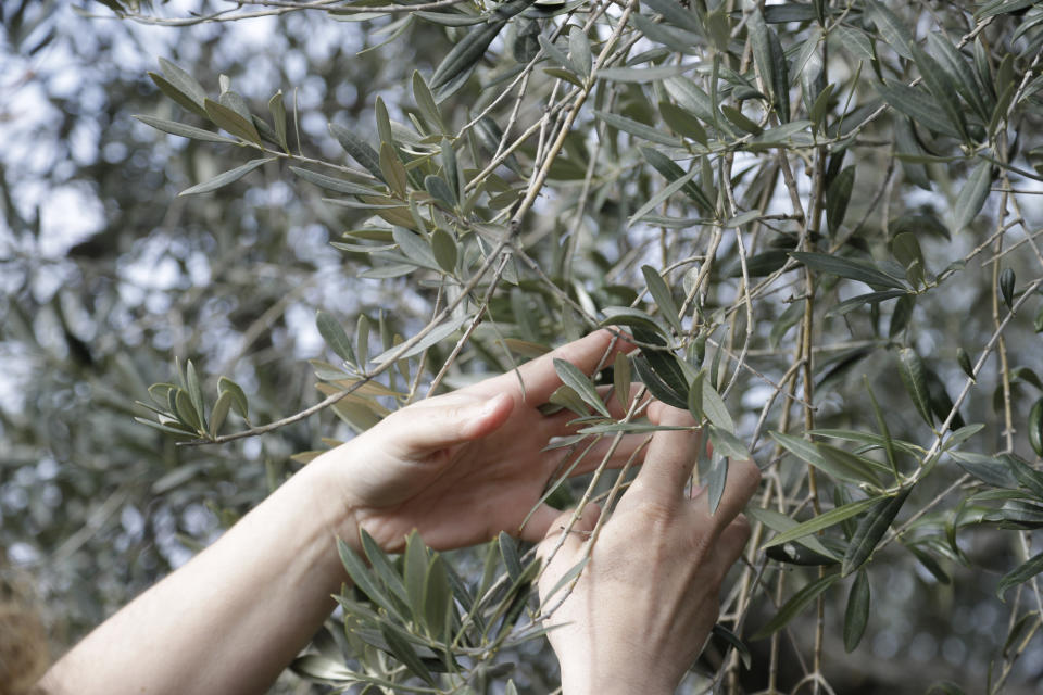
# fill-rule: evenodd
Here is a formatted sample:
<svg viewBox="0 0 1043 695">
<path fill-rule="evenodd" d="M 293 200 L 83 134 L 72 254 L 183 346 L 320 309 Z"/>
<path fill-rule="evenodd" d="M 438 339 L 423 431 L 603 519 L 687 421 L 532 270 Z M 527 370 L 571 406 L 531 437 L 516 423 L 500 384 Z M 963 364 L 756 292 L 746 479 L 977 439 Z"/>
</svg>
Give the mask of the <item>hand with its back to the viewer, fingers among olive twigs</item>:
<svg viewBox="0 0 1043 695">
<path fill-rule="evenodd" d="M 649 418 L 694 425 L 686 412 L 662 403 L 649 408 Z M 694 498 L 683 492 L 701 445 L 694 431 L 655 433 L 575 587 L 549 618 L 565 695 L 673 693 L 702 650 L 717 621 L 720 582 L 750 535 L 739 513 L 761 472 L 751 460 L 731 462 L 711 515 L 705 490 Z M 552 523 L 540 546 L 544 559 L 571 514 Z M 588 506 L 545 567 L 539 581 L 544 609 L 558 598 L 548 592 L 587 553 L 598 516 L 596 506 Z"/>
</svg>

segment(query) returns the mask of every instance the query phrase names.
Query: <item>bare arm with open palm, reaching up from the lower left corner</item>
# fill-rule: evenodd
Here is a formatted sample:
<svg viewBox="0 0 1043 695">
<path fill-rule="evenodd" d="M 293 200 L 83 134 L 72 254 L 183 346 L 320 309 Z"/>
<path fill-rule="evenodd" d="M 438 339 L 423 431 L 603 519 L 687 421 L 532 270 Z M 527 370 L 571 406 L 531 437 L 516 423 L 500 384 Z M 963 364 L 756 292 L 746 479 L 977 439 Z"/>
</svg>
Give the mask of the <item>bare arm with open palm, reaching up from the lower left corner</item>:
<svg viewBox="0 0 1043 695">
<path fill-rule="evenodd" d="M 542 539 L 557 511 L 536 505 L 563 455 L 543 448 L 569 433 L 571 418 L 537 409 L 561 386 L 553 358 L 590 374 L 606 353 L 611 361 L 614 350 L 629 348 L 612 341 L 607 331 L 592 333 L 515 371 L 403 408 L 319 456 L 91 632 L 41 687 L 54 695 L 263 693 L 348 580 L 336 538 L 361 551 L 364 529 L 390 552 L 413 529 L 438 548 L 500 531 Z M 638 435 L 624 438 L 610 465 L 621 466 L 640 446 Z M 598 445 L 575 472 L 605 452 L 607 443 Z"/>
</svg>

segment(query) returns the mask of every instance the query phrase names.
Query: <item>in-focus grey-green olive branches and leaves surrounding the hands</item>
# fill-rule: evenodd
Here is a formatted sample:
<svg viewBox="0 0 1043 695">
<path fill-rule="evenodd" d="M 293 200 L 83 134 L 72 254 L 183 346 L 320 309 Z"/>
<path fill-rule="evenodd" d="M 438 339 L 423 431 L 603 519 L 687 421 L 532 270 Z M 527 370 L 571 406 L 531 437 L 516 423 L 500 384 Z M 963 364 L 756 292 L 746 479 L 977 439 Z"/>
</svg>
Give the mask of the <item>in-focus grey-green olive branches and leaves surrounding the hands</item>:
<svg viewBox="0 0 1043 695">
<path fill-rule="evenodd" d="M 175 25 L 303 9 L 244 2 L 167 17 L 106 4 Z M 334 119 L 326 141 L 301 137 L 292 80 L 252 103 L 225 76 L 165 61 L 150 78 L 177 109 L 140 119 L 225 157 L 224 173 L 183 195 L 260 174 L 321 189 L 323 214 L 347 227 L 332 242 L 344 267 L 424 301 L 393 318 L 376 311 L 390 299 L 357 316 L 318 313 L 337 361 L 313 361 L 325 397 L 297 415 L 268 403 L 275 419 L 261 418 L 249 389 L 186 363 L 150 390 L 142 418 L 193 443 L 269 435 L 325 408 L 364 430 L 482 369 L 624 327 L 641 351 L 614 372 L 706 425 L 713 453 L 698 482 L 719 492 L 728 458 L 746 452 L 765 469 L 749 564 L 722 612 L 753 669 L 726 640 L 704 685 L 855 692 L 853 659 L 878 617 L 894 615 L 883 589 L 899 572 L 1006 597 L 990 668 L 963 685 L 1008 685 L 1043 618 L 1032 549 L 1043 519 L 1043 9 L 454 0 L 322 11 L 387 38 L 365 60 L 417 37 L 437 42 L 439 60 L 407 63 L 398 89 L 374 93 L 355 114 L 365 118 Z M 347 156 L 328 154 L 331 140 Z M 637 403 L 613 421 L 586 376 L 558 368 L 567 386 L 553 401 L 577 410 L 583 434 L 648 431 Z M 605 492 L 599 478 L 590 495 Z M 1004 552 L 983 552 L 985 541 Z M 425 578 L 452 577 L 412 545 Z M 411 584 L 410 554 L 369 556 L 379 583 L 365 590 L 360 573 L 365 601 L 343 597 L 352 675 L 343 654 L 301 672 L 450 687 L 457 661 L 474 649 L 491 659 L 510 641 L 461 636 L 472 626 L 457 609 L 483 595 L 463 580 L 439 580 L 454 596 L 439 594 L 445 614 L 420 609 L 409 587 L 427 579 Z M 503 559 L 501 581 L 516 581 Z M 345 558 L 364 572 L 356 560 Z M 780 665 L 789 650 L 794 668 Z M 436 677 L 435 661 L 450 673 Z"/>
</svg>

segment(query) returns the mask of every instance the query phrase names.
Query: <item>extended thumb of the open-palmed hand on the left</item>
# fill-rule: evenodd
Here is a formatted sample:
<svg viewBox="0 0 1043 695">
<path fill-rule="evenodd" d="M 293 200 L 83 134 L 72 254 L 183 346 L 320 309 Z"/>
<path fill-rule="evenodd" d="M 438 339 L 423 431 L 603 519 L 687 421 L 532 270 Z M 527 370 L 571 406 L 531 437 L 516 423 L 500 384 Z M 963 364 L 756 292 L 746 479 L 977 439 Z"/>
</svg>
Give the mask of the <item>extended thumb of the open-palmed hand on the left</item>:
<svg viewBox="0 0 1043 695">
<path fill-rule="evenodd" d="M 512 410 L 514 399 L 506 393 L 473 403 L 425 407 L 403 428 L 404 444 L 414 454 L 428 454 L 481 439 L 503 426 Z"/>
</svg>

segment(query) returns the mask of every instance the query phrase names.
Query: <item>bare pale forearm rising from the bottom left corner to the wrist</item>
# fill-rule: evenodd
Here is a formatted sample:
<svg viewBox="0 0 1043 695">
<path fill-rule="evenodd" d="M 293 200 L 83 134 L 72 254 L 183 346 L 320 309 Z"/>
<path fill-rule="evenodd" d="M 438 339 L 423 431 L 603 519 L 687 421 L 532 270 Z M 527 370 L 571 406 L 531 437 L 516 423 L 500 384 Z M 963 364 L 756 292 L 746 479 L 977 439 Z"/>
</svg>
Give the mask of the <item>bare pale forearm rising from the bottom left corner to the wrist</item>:
<svg viewBox="0 0 1043 695">
<path fill-rule="evenodd" d="M 324 473 L 294 476 L 91 632 L 51 668 L 46 692 L 264 692 L 347 581 L 335 539 L 357 531 Z"/>
</svg>

